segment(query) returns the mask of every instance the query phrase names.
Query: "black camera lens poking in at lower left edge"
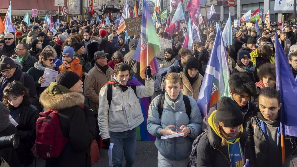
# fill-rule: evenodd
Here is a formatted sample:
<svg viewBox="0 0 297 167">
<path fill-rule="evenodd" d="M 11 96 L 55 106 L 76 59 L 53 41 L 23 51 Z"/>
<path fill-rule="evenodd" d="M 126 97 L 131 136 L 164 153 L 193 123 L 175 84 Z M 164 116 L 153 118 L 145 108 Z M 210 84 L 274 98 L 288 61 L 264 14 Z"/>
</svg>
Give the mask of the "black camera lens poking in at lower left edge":
<svg viewBox="0 0 297 167">
<path fill-rule="evenodd" d="M 0 136 L 0 150 L 6 148 L 17 148 L 20 143 L 20 136 L 15 133 L 10 136 Z"/>
</svg>

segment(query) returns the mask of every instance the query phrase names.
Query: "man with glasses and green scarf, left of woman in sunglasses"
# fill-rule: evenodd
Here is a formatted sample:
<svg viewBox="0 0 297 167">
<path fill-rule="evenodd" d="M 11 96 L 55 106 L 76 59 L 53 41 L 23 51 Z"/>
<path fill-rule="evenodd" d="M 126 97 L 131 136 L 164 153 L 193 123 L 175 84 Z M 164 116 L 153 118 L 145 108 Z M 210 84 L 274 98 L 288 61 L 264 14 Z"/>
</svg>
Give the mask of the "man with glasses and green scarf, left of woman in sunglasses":
<svg viewBox="0 0 297 167">
<path fill-rule="evenodd" d="M 15 56 L 13 59 L 17 59 L 23 66 L 22 71 L 26 73 L 31 67 L 34 67 L 34 63 L 38 60 L 31 56 L 28 51 L 28 45 L 26 43 L 20 42 L 15 48 Z"/>
</svg>

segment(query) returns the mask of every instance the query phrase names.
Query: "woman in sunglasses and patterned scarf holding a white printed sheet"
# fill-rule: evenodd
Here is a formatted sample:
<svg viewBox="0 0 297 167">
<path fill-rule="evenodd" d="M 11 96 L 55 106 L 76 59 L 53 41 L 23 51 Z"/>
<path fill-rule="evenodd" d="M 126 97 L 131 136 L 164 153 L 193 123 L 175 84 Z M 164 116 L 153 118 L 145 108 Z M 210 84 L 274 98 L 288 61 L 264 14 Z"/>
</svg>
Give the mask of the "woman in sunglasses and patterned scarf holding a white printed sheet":
<svg viewBox="0 0 297 167">
<path fill-rule="evenodd" d="M 43 76 L 44 70 L 46 68 L 49 68 L 52 70 L 56 69 L 56 64 L 53 64 L 53 61 L 55 58 L 56 57 L 53 53 L 43 51 L 39 55 L 39 61 L 34 63 L 34 67 L 31 67 L 27 71 L 27 74 L 30 74 L 34 79 L 38 99 L 39 99 L 40 94 L 44 91 L 44 89 L 47 88 L 46 86 L 41 87 L 41 84 L 45 82 L 45 77 Z M 40 111 L 42 111 L 43 107 L 40 103 L 38 103 L 37 108 Z"/>
</svg>

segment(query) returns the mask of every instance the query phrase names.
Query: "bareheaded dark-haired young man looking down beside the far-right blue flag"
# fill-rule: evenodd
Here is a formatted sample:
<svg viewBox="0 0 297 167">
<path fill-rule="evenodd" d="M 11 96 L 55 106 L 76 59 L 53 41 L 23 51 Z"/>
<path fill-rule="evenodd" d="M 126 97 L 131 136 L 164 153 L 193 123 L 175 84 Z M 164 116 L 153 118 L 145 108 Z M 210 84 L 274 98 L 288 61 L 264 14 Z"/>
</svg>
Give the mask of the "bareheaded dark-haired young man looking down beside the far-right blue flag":
<svg viewBox="0 0 297 167">
<path fill-rule="evenodd" d="M 253 147 L 253 156 L 257 167 L 282 166 L 282 151 L 280 139 L 279 93 L 270 87 L 265 87 L 259 94 L 257 116 L 248 122 L 247 133 Z M 296 137 L 285 136 L 286 158 L 296 149 Z"/>
</svg>

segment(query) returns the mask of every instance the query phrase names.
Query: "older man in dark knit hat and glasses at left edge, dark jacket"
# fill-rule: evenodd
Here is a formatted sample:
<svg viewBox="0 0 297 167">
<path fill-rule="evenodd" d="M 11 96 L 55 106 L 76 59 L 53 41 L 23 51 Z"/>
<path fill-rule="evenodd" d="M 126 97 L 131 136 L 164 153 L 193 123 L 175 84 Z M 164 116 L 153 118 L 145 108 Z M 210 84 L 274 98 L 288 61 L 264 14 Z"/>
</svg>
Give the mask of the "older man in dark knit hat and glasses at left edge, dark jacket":
<svg viewBox="0 0 297 167">
<path fill-rule="evenodd" d="M 0 99 L 3 98 L 3 90 L 8 83 L 12 81 L 19 81 L 28 90 L 30 95 L 30 101 L 33 105 L 37 104 L 37 93 L 34 86 L 34 79 L 31 75 L 22 72 L 21 67 L 15 64 L 15 62 L 2 55 L 0 59 Z"/>
</svg>

